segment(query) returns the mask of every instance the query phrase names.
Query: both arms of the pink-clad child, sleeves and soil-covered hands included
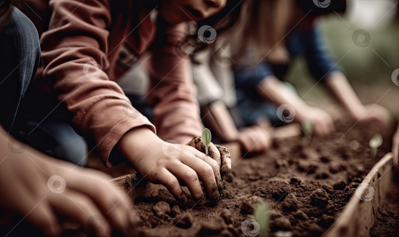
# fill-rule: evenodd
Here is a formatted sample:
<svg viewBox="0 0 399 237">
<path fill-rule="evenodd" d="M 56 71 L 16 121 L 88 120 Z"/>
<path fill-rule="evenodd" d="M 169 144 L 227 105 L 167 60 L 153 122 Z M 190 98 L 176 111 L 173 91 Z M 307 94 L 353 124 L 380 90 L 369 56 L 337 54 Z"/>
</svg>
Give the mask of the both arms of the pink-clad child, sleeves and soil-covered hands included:
<svg viewBox="0 0 399 237">
<path fill-rule="evenodd" d="M 95 146 L 104 164 L 112 165 L 108 156 L 118 147 L 142 176 L 172 187 L 170 191 L 175 197 L 181 194 L 176 191 L 177 186 L 171 186 L 176 185 L 177 178 L 195 184 L 190 189 L 193 196 L 203 197 L 197 173 L 208 194 L 216 197 L 218 188 L 223 187 L 219 170 L 225 167 L 223 174 L 226 174 L 231 169 L 228 152 L 223 153 L 211 145 L 215 159 L 212 160 L 194 148 L 179 145 L 182 152 L 176 157 L 168 157 L 163 148 L 168 148 L 169 143 L 155 135 L 155 126 L 137 113 L 123 90 L 109 80 L 107 54 L 113 49 L 108 49 L 110 32 L 106 29 L 111 24 L 108 3 L 107 0 L 50 0 L 52 20 L 49 30 L 41 37 L 43 74 L 50 89 L 66 105 L 76 129 Z M 161 96 L 154 111 L 157 122 L 161 129 L 171 131 L 171 139 L 186 144 L 199 136 L 202 128 L 197 123 L 199 107 L 194 87 L 188 81 L 190 77 L 185 76 L 185 71 L 191 67 L 186 60 L 176 60 L 167 50 L 162 60 L 154 63 L 154 67 L 165 73 L 159 77 L 160 87 L 153 91 Z M 148 164 L 153 166 L 147 169 Z M 181 173 L 183 169 L 172 170 L 181 166 L 186 173 Z"/>
</svg>

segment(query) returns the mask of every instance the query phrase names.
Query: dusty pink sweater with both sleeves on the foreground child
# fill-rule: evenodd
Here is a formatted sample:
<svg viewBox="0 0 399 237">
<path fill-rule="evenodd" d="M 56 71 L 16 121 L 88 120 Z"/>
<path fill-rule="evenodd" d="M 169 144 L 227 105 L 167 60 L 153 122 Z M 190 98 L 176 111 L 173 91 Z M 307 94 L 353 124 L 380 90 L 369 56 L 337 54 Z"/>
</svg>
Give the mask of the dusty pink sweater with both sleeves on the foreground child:
<svg viewBox="0 0 399 237">
<path fill-rule="evenodd" d="M 199 136 L 203 128 L 190 59 L 176 52 L 177 42 L 185 36 L 185 24 L 166 30 L 167 44 L 152 52 L 148 63 L 152 87 L 147 99 L 154 105 L 154 126 L 135 112 L 115 82 L 127 70 L 120 63 L 121 45 L 139 55 L 153 42 L 157 29 L 150 16 L 152 9 L 132 16 L 126 13 L 131 10 L 120 12 L 110 1 L 27 0 L 17 4 L 38 31 L 44 31 L 40 37 L 44 70 L 36 77 L 44 76 L 50 91 L 73 114 L 75 129 L 92 139 L 108 167 L 112 166 L 110 151 L 134 127 L 147 125 L 154 132 L 157 128 L 159 137 L 180 144 Z M 120 4 L 122 1 L 132 6 L 131 0 L 120 0 Z M 36 19 L 27 4 L 51 18 L 41 25 L 46 19 Z M 139 18 L 138 27 L 130 24 L 131 17 Z M 139 37 L 132 33 L 134 28 Z"/>
</svg>

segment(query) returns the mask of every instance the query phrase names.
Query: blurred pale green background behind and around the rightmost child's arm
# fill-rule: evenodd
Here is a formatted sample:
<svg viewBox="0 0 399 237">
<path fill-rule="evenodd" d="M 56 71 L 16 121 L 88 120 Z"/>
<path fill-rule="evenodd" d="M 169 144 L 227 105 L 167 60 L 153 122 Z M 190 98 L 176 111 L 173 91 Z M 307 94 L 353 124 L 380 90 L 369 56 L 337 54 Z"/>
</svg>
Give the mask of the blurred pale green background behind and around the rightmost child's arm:
<svg viewBox="0 0 399 237">
<path fill-rule="evenodd" d="M 367 9 L 361 9 L 360 16 L 356 16 L 359 14 L 352 9 L 354 4 L 348 0 L 349 9 L 345 15 L 323 16 L 318 20 L 318 25 L 332 57 L 341 59 L 339 65 L 362 101 L 375 103 L 379 100 L 378 104 L 388 107 L 398 115 L 399 87 L 392 82 L 391 75 L 399 68 L 399 4 L 396 0 L 355 1 L 367 4 Z M 382 7 L 381 3 L 384 2 L 388 4 Z M 366 19 L 373 17 L 374 22 L 366 23 Z M 358 29 L 366 30 L 371 35 L 370 43 L 366 47 L 357 46 L 352 40 L 353 33 Z M 359 36 L 360 41 L 364 40 L 362 37 L 364 36 Z M 331 97 L 322 84 L 312 89 L 315 80 L 307 71 L 304 59 L 295 60 L 286 80 L 310 104 L 330 104 Z"/>
</svg>

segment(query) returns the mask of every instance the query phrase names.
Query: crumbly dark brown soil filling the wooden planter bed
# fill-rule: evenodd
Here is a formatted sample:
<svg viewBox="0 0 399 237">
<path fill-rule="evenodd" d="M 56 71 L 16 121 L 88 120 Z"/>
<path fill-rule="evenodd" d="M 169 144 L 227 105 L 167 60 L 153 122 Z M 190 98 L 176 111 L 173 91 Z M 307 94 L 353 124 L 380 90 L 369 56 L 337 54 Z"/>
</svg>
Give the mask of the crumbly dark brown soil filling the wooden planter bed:
<svg viewBox="0 0 399 237">
<path fill-rule="evenodd" d="M 245 236 L 241 224 L 254 218 L 259 202 L 269 207 L 272 236 L 323 235 L 374 163 L 391 150 L 387 133 L 377 158 L 371 158 L 368 141 L 374 133 L 351 126 L 337 123 L 332 136 L 310 142 L 277 139 L 266 154 L 242 159 L 224 178 L 224 197 L 216 206 L 179 204 L 161 185 L 147 190 L 134 205 L 142 220 L 140 236 Z"/>
</svg>

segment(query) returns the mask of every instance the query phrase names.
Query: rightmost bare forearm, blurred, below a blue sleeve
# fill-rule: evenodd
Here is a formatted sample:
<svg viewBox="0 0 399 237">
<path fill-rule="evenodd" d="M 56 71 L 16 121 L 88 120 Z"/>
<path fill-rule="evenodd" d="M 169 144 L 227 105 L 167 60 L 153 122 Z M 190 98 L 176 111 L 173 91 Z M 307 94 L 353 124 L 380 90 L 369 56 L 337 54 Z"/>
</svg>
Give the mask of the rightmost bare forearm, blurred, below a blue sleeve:
<svg viewBox="0 0 399 237">
<path fill-rule="evenodd" d="M 359 119 L 365 114 L 365 106 L 342 72 L 336 71 L 328 75 L 325 85 L 352 118 Z"/>
</svg>

